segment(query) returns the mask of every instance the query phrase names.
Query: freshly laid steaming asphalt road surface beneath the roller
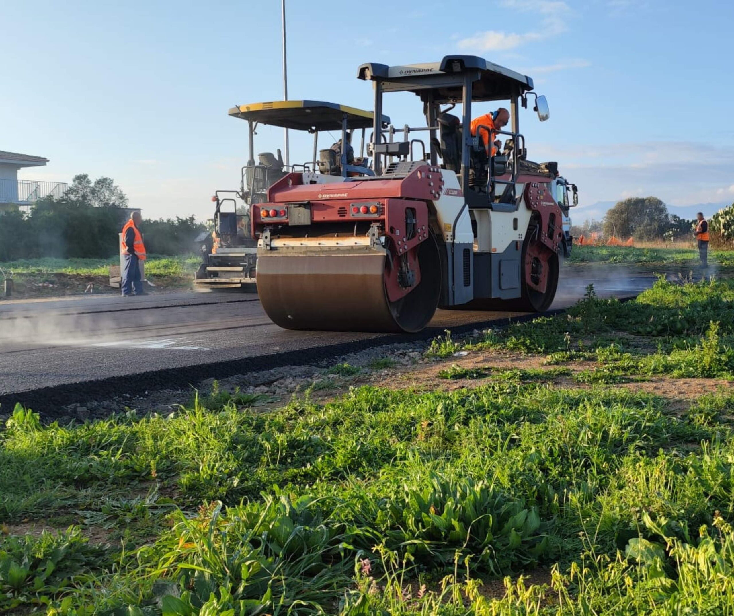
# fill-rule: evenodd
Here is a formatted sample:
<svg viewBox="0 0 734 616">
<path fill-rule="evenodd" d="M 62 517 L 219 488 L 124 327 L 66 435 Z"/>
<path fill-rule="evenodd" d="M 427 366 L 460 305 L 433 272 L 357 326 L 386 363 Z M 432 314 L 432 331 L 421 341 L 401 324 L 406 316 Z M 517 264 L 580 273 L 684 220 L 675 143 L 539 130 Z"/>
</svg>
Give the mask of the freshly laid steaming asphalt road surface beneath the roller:
<svg viewBox="0 0 734 616">
<path fill-rule="evenodd" d="M 573 304 L 589 283 L 600 296 L 623 297 L 654 279 L 619 267 L 575 267 L 562 272 L 553 308 Z M 508 316 L 519 313 L 437 311 L 423 336 L 473 329 Z M 291 363 L 306 363 L 309 355 L 324 359 L 352 347 L 406 339 L 410 337 L 283 330 L 270 322 L 255 294 L 190 291 L 10 300 L 0 302 L 0 403 L 72 384 L 87 391 L 94 383 L 109 382 L 135 393 L 136 383 L 153 386 L 153 374 L 161 386 L 177 379 L 193 383 L 222 371 L 265 369 L 273 358 L 291 356 Z"/>
</svg>

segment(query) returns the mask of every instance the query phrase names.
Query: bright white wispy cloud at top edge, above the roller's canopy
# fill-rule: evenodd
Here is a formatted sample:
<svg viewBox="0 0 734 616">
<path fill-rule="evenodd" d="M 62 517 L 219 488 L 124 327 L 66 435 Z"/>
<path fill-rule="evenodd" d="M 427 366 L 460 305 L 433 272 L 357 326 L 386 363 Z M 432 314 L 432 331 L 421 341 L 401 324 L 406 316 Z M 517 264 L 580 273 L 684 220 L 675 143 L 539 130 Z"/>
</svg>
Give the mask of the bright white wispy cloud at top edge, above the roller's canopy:
<svg viewBox="0 0 734 616">
<path fill-rule="evenodd" d="M 566 32 L 564 15 L 570 12 L 568 4 L 560 0 L 502 0 L 501 5 L 511 10 L 536 12 L 543 15 L 540 29 L 530 32 L 504 32 L 487 30 L 477 32 L 473 37 L 459 40 L 460 49 L 479 51 L 507 51 L 526 43 L 554 37 Z"/>
</svg>

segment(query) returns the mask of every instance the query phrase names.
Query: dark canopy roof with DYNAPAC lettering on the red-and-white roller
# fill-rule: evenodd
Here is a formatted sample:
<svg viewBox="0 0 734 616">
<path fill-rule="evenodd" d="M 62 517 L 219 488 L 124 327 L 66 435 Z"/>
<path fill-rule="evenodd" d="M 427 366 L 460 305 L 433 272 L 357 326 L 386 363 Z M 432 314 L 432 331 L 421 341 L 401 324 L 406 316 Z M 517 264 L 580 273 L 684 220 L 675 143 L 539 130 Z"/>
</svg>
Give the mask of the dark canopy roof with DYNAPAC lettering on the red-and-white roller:
<svg viewBox="0 0 734 616">
<path fill-rule="evenodd" d="M 533 89 L 533 80 L 477 56 L 445 56 L 440 62 L 388 66 L 368 62 L 359 79 L 380 81 L 385 92 L 409 91 L 436 103 L 460 101 L 466 75 L 472 76 L 472 101 L 501 101 Z"/>
</svg>

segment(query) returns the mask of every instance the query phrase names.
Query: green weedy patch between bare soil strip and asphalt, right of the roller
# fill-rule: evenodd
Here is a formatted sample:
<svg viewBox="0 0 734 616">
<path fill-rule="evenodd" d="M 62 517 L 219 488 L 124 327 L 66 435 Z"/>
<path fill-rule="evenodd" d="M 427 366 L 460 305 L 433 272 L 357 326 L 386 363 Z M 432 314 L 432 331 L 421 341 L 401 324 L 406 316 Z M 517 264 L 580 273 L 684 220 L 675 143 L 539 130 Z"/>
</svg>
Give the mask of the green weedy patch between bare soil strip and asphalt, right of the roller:
<svg viewBox="0 0 734 616">
<path fill-rule="evenodd" d="M 508 349 L 545 355 L 549 364 L 596 360 L 595 369 L 575 377 L 579 383 L 651 374 L 734 380 L 734 281 L 674 284 L 660 278 L 628 302 L 601 300 L 590 287 L 565 314 L 466 341 L 448 332 L 431 349 L 448 345 L 451 354 Z M 442 356 L 439 350 L 433 352 Z"/>
</svg>

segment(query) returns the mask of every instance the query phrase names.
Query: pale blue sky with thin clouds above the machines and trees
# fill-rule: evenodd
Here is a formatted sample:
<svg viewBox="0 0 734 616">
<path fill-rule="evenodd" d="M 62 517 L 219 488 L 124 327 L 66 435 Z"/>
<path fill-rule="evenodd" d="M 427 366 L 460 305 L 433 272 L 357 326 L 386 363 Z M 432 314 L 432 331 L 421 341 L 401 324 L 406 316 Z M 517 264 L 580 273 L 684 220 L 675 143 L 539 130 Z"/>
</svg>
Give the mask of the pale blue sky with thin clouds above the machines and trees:
<svg viewBox="0 0 734 616">
<path fill-rule="evenodd" d="M 369 109 L 361 63 L 476 54 L 547 95 L 551 120 L 521 120 L 528 157 L 578 184 L 575 220 L 631 195 L 686 217 L 734 201 L 734 3 L 287 4 L 290 98 Z M 211 216 L 209 196 L 236 187 L 247 159 L 247 125 L 227 110 L 282 98 L 280 0 L 5 1 L 0 23 L 0 150 L 51 159 L 22 178 L 108 175 L 148 217 Z M 421 121 L 413 95 L 386 98 L 385 112 Z M 256 149 L 282 141 L 263 129 Z M 291 162 L 309 158 L 310 141 L 292 137 Z"/>
</svg>

